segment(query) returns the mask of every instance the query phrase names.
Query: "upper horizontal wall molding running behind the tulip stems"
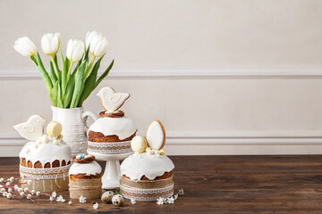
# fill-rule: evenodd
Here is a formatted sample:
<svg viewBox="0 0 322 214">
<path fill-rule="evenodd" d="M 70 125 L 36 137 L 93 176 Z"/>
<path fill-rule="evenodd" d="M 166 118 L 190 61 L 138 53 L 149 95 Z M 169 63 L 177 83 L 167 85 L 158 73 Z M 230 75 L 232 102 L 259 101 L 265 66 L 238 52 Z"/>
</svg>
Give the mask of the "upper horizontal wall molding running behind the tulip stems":
<svg viewBox="0 0 322 214">
<path fill-rule="evenodd" d="M 104 70 L 102 68 L 101 70 Z M 292 66 L 131 66 L 111 70 L 108 78 L 322 78 L 322 65 Z M 40 79 L 36 68 L 0 70 L 0 80 Z"/>
</svg>

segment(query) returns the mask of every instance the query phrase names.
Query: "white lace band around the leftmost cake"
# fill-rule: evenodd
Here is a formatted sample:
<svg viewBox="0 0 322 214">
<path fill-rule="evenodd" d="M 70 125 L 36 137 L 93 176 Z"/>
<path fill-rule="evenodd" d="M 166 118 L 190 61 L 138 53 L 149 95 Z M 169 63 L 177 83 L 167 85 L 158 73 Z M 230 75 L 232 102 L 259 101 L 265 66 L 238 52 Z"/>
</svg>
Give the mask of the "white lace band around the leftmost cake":
<svg viewBox="0 0 322 214">
<path fill-rule="evenodd" d="M 57 168 L 26 168 L 20 166 L 21 177 L 30 177 L 33 179 L 55 179 L 61 177 L 68 177 L 68 171 L 71 168 L 72 164 L 69 164 L 64 167 Z"/>
</svg>

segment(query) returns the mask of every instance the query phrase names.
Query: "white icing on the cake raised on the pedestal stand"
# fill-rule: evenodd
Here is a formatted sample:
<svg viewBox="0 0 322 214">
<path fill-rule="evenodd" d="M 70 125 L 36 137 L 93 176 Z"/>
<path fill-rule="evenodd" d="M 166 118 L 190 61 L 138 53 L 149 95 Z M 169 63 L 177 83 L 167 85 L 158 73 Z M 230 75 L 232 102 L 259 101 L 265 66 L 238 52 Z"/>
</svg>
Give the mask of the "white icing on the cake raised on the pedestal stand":
<svg viewBox="0 0 322 214">
<path fill-rule="evenodd" d="M 127 117 L 122 118 L 100 118 L 97 119 L 90 127 L 89 130 L 100 132 L 104 136 L 118 136 L 123 140 L 133 135 L 138 128 L 134 121 Z"/>
</svg>

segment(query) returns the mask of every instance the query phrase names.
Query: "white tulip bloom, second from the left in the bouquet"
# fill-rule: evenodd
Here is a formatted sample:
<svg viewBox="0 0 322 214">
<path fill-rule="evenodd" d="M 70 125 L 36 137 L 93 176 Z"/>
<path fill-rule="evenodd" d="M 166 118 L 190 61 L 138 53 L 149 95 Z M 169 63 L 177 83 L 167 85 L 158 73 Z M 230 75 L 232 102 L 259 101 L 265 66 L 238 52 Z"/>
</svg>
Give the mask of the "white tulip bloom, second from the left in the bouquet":
<svg viewBox="0 0 322 214">
<path fill-rule="evenodd" d="M 47 33 L 41 38 L 41 49 L 47 55 L 55 55 L 59 49 L 59 33 Z"/>
</svg>

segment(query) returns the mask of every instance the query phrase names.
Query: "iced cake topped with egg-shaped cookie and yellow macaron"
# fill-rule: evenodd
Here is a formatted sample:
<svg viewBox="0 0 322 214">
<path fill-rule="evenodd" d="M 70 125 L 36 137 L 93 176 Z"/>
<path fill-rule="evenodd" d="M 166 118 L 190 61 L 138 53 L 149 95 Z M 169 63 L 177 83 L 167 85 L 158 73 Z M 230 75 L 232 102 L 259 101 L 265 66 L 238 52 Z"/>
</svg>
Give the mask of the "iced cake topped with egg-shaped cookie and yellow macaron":
<svg viewBox="0 0 322 214">
<path fill-rule="evenodd" d="M 135 152 L 121 165 L 120 190 L 123 197 L 135 201 L 156 201 L 174 194 L 174 163 L 162 148 L 165 128 L 158 120 L 148 127 L 147 136 L 135 136 L 131 148 Z"/>
</svg>

